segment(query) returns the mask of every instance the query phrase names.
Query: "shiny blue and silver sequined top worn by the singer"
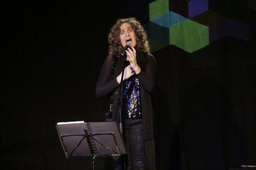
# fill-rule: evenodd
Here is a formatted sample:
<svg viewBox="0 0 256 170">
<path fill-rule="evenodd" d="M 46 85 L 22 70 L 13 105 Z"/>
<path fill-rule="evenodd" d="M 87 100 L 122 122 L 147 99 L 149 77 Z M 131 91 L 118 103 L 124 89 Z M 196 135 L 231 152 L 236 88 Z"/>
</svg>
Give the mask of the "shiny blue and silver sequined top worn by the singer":
<svg viewBox="0 0 256 170">
<path fill-rule="evenodd" d="M 139 85 L 139 79 L 135 75 L 124 82 L 122 99 L 124 118 L 142 118 Z"/>
</svg>

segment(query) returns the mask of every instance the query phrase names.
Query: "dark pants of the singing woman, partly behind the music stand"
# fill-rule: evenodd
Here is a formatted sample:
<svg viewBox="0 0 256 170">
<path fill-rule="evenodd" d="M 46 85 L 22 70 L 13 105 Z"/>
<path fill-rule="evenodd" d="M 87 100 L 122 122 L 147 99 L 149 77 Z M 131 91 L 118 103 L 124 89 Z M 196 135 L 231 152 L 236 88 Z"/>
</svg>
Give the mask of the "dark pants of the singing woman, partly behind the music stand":
<svg viewBox="0 0 256 170">
<path fill-rule="evenodd" d="M 113 156 L 114 169 L 145 169 L 142 119 L 124 119 L 123 128 L 123 137 L 127 154 Z"/>
</svg>

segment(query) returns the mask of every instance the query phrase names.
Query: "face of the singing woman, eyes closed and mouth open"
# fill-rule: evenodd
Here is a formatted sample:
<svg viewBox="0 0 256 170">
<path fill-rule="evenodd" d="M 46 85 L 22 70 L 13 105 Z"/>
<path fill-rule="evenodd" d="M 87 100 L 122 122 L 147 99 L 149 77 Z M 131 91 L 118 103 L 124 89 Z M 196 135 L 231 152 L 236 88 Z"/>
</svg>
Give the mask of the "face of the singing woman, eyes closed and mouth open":
<svg viewBox="0 0 256 170">
<path fill-rule="evenodd" d="M 136 46 L 134 29 L 129 23 L 123 23 L 120 26 L 120 41 L 123 47 L 126 46 L 126 43 L 129 43 L 132 47 Z"/>
</svg>

